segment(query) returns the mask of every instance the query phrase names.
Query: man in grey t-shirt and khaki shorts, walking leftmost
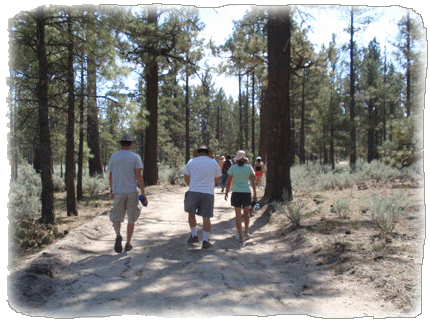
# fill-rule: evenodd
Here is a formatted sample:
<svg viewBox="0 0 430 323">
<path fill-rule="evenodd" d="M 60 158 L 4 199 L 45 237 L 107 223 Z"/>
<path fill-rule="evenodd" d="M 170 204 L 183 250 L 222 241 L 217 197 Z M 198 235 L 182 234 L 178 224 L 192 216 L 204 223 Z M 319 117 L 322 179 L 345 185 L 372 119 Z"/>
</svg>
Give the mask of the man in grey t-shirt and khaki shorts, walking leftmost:
<svg viewBox="0 0 430 323">
<path fill-rule="evenodd" d="M 114 250 L 117 253 L 122 252 L 121 223 L 124 222 L 126 212 L 128 223 L 127 242 L 124 250 L 130 251 L 133 248 L 130 243 L 131 237 L 141 210 L 138 187 L 142 195 L 145 196 L 144 203 L 147 203 L 142 177 L 142 159 L 138 154 L 131 151 L 134 142 L 129 135 L 123 135 L 118 141 L 122 149 L 112 154 L 108 164 L 109 185 L 111 199 L 113 199 L 109 218 L 113 222 L 116 233 Z"/>
</svg>

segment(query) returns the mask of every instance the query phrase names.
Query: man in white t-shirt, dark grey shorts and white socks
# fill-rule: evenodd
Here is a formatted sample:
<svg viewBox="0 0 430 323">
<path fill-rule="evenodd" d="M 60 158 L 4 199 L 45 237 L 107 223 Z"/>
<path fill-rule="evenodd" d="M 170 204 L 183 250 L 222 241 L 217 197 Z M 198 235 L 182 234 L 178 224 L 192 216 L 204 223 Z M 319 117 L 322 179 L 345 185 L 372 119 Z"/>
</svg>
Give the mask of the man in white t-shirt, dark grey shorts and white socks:
<svg viewBox="0 0 430 323">
<path fill-rule="evenodd" d="M 209 248 L 209 233 L 214 210 L 214 188 L 222 175 L 218 163 L 211 158 L 212 151 L 206 145 L 200 145 L 184 168 L 185 182 L 189 186 L 185 193 L 184 210 L 188 212 L 191 236 L 188 243 L 199 241 L 197 236 L 196 214 L 203 218 L 202 248 Z"/>
</svg>

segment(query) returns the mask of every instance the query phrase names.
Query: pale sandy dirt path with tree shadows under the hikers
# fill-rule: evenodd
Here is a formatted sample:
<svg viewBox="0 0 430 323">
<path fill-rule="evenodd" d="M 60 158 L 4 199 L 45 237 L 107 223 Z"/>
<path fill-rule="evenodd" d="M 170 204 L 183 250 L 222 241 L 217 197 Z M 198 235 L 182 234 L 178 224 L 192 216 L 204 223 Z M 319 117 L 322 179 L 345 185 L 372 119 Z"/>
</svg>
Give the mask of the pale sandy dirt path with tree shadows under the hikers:
<svg viewBox="0 0 430 323">
<path fill-rule="evenodd" d="M 219 189 L 213 247 L 188 245 L 185 191 L 150 196 L 130 252 L 113 251 L 114 232 L 105 213 L 32 256 L 9 279 L 10 306 L 28 315 L 61 318 L 404 315 L 370 285 L 336 275 L 308 257 L 318 251 L 318 241 L 292 248 L 277 231 L 281 220 L 263 211 L 251 217 L 253 237 L 238 243 L 233 209 Z M 198 218 L 200 240 L 201 223 Z M 125 226 L 122 232 L 124 237 Z"/>
</svg>

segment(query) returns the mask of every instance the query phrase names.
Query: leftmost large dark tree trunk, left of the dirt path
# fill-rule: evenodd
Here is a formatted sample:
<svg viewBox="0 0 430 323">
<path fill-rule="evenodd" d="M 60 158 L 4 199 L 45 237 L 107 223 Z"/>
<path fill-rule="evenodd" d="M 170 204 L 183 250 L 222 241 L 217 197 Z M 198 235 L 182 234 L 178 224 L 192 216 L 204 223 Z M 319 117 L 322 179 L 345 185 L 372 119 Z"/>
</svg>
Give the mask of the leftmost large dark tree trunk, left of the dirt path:
<svg viewBox="0 0 430 323">
<path fill-rule="evenodd" d="M 45 45 L 45 9 L 38 7 L 34 17 L 37 29 L 37 60 L 39 84 L 36 95 L 39 103 L 40 173 L 42 180 L 42 223 L 54 223 L 54 184 L 52 181 L 52 149 L 49 130 L 48 59 Z"/>
</svg>

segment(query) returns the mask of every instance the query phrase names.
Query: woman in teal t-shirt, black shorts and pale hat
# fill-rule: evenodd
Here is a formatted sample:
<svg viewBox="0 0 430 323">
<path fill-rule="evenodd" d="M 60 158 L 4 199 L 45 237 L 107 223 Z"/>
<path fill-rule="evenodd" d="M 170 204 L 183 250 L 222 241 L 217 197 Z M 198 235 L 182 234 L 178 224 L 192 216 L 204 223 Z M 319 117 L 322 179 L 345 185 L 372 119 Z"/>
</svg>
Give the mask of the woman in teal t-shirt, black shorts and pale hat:
<svg viewBox="0 0 430 323">
<path fill-rule="evenodd" d="M 245 151 L 238 150 L 236 152 L 237 164 L 230 167 L 228 171 L 227 187 L 225 192 L 225 200 L 228 199 L 228 192 L 232 182 L 234 183 L 233 193 L 231 195 L 231 206 L 234 207 L 236 213 L 236 229 L 239 233 L 239 242 L 242 242 L 242 208 L 245 223 L 245 239 L 251 238 L 249 234 L 249 207 L 251 206 L 251 187 L 253 191 L 252 200 L 257 202 L 257 192 L 255 189 L 254 170 L 247 164 Z M 250 187 L 251 183 L 251 187 Z"/>
</svg>

